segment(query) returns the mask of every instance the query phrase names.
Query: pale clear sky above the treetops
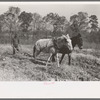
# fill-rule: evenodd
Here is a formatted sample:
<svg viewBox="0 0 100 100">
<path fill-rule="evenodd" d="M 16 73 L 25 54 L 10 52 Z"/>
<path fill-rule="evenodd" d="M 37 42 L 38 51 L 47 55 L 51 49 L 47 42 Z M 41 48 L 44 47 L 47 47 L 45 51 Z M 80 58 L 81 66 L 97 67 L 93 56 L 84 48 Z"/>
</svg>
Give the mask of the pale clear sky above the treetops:
<svg viewBox="0 0 100 100">
<path fill-rule="evenodd" d="M 10 6 L 19 7 L 21 11 L 37 12 L 42 16 L 53 12 L 65 16 L 69 21 L 70 16 L 78 12 L 95 14 L 100 24 L 100 2 L 0 2 L 0 14 L 6 12 Z"/>
</svg>

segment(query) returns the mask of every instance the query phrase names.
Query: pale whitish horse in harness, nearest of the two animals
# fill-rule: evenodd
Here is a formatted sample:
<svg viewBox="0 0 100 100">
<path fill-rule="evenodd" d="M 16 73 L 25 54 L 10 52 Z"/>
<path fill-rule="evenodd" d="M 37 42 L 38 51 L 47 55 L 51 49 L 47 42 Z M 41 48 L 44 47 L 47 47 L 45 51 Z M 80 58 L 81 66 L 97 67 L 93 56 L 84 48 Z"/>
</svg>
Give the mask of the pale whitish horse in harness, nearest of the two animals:
<svg viewBox="0 0 100 100">
<path fill-rule="evenodd" d="M 59 59 L 58 59 L 58 51 L 62 46 L 67 46 L 70 50 L 72 50 L 72 43 L 69 35 L 62 35 L 53 39 L 39 39 L 34 47 L 33 47 L 33 57 L 36 59 L 36 56 L 40 54 L 40 52 L 49 53 L 50 56 L 47 60 L 46 67 L 48 65 L 49 60 L 52 55 L 57 56 L 57 65 L 59 67 Z"/>
</svg>

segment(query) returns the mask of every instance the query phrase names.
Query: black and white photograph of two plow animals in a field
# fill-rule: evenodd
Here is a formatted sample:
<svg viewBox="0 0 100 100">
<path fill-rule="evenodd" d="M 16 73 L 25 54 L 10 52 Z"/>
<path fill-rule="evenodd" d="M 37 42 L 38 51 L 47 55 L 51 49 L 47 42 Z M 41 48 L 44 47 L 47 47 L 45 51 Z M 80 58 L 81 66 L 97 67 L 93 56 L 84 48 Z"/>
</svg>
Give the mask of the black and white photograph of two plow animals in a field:
<svg viewBox="0 0 100 100">
<path fill-rule="evenodd" d="M 100 3 L 0 2 L 0 81 L 100 81 Z"/>
</svg>

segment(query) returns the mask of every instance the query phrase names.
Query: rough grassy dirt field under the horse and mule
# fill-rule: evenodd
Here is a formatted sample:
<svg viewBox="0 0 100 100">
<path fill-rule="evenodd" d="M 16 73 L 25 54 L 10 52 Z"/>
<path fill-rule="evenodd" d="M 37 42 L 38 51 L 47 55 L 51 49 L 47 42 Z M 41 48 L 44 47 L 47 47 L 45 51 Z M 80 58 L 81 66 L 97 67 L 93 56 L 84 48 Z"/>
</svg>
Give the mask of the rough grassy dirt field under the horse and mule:
<svg viewBox="0 0 100 100">
<path fill-rule="evenodd" d="M 99 81 L 100 51 L 76 49 L 72 64 L 67 55 L 58 68 L 50 63 L 46 68 L 48 54 L 41 53 L 37 61 L 32 57 L 32 45 L 21 46 L 21 53 L 12 55 L 10 45 L 0 45 L 0 81 Z M 59 54 L 59 57 L 61 54 Z"/>
</svg>

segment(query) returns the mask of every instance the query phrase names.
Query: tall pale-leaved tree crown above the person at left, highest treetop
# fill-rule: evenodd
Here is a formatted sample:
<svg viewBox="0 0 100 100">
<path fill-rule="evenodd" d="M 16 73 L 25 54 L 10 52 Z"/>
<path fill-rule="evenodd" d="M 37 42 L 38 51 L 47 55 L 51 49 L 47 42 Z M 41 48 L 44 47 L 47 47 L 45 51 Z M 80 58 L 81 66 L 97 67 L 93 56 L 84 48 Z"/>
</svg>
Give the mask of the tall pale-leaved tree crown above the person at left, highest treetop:
<svg viewBox="0 0 100 100">
<path fill-rule="evenodd" d="M 16 33 L 19 30 L 19 13 L 20 8 L 10 7 L 9 10 L 4 14 L 4 25 L 7 27 L 10 33 Z"/>
</svg>

